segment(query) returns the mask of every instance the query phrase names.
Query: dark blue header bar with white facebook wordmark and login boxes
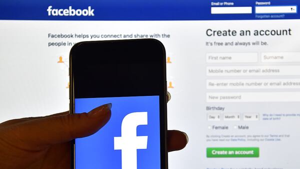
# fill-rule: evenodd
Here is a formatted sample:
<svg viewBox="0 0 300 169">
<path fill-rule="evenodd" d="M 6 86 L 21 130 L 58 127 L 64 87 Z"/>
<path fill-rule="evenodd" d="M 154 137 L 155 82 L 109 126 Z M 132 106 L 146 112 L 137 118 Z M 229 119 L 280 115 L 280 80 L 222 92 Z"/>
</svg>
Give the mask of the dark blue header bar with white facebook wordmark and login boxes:
<svg viewBox="0 0 300 169">
<path fill-rule="evenodd" d="M 11 20 L 300 19 L 300 0 L 1 0 Z"/>
</svg>

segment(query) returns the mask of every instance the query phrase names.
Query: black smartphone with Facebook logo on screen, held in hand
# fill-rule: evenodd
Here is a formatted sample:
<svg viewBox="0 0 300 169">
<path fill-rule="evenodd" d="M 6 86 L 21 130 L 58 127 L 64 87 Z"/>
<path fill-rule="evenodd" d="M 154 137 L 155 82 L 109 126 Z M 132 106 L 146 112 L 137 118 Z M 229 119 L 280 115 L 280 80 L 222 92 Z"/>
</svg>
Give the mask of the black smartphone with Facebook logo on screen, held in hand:
<svg viewBox="0 0 300 169">
<path fill-rule="evenodd" d="M 70 112 L 112 103 L 109 121 L 72 142 L 76 169 L 165 169 L 165 49 L 156 39 L 83 41 L 70 50 Z"/>
</svg>

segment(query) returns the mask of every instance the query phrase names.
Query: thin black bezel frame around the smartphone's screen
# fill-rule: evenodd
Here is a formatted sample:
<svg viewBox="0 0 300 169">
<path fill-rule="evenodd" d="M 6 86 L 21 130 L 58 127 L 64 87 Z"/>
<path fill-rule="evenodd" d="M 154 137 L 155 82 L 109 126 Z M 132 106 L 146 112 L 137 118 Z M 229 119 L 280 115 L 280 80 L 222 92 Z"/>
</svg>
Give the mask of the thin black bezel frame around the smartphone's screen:
<svg viewBox="0 0 300 169">
<path fill-rule="evenodd" d="M 95 44 L 95 43 L 111 43 L 111 42 L 143 42 L 147 43 L 147 41 L 150 43 L 157 43 L 161 47 L 161 66 L 162 66 L 162 78 L 163 83 L 161 83 L 161 91 L 159 92 L 159 117 L 160 117 L 160 168 L 161 169 L 167 169 L 167 144 L 166 144 L 166 134 L 167 134 L 167 115 L 166 115 L 166 102 L 167 102 L 167 92 L 166 92 L 166 58 L 165 58 L 165 48 L 163 44 L 156 39 L 125 39 L 125 40 L 101 40 L 101 41 L 82 41 L 74 44 L 74 46 L 70 50 L 69 54 L 69 99 L 70 99 L 70 113 L 74 113 L 74 71 L 73 71 L 73 56 L 74 50 L 78 48 L 78 46 L 82 44 Z M 145 49 L 149 49 L 150 46 L 144 45 Z M 87 49 L 87 48 L 86 48 Z M 88 50 L 88 49 L 87 49 Z M 90 50 L 89 50 L 90 51 Z M 134 95 L 134 94 L 133 94 Z M 132 96 L 133 96 L 132 95 Z M 131 95 L 128 95 L 131 96 Z M 101 96 L 99 96 L 101 97 Z M 70 166 L 72 169 L 75 168 L 75 141 L 70 141 Z"/>
</svg>

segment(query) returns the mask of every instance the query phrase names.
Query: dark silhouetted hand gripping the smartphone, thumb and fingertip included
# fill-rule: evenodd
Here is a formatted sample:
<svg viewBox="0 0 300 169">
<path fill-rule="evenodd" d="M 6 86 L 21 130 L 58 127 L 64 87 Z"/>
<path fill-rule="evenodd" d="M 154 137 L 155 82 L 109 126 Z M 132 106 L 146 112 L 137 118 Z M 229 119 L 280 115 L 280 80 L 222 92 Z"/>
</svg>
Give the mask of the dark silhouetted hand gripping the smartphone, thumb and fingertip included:
<svg viewBox="0 0 300 169">
<path fill-rule="evenodd" d="M 88 113 L 68 111 L 0 123 L 0 168 L 70 168 L 70 140 L 93 134 L 110 118 L 111 104 Z M 167 131 L 167 150 L 182 149 L 184 132 Z"/>
</svg>

